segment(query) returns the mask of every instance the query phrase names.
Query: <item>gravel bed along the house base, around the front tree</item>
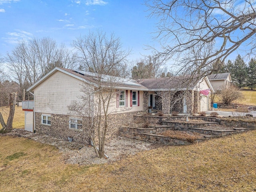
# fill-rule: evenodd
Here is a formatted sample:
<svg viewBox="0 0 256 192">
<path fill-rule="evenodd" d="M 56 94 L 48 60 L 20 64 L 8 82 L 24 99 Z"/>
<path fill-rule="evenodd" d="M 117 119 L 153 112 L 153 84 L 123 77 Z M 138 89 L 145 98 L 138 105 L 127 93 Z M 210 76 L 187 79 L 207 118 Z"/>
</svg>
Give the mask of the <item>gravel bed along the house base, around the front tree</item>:
<svg viewBox="0 0 256 192">
<path fill-rule="evenodd" d="M 52 138 L 47 135 L 31 133 L 23 129 L 14 129 L 4 135 L 22 136 L 43 144 L 56 146 L 60 152 L 62 152 L 66 163 L 83 165 L 114 162 L 127 155 L 134 155 L 138 152 L 158 148 L 161 146 L 148 142 L 119 137 L 105 144 L 105 153 L 109 158 L 97 158 L 92 146 L 85 146 L 77 142 L 63 141 L 61 139 Z"/>
</svg>

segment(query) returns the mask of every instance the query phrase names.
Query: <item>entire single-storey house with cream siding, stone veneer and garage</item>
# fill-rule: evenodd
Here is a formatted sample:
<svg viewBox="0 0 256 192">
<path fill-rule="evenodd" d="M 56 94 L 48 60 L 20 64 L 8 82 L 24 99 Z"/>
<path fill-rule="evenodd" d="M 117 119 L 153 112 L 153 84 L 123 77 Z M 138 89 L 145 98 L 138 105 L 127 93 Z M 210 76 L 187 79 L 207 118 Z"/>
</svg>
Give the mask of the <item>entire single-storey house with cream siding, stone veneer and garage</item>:
<svg viewBox="0 0 256 192">
<path fill-rule="evenodd" d="M 108 87 L 109 76 L 104 77 L 106 81 L 102 84 Z M 74 116 L 68 106 L 74 101 L 83 101 L 81 97 L 86 96 L 82 91 L 84 87 L 95 86 L 97 91 L 95 80 L 96 74 L 93 73 L 54 68 L 31 86 L 28 91 L 34 92 L 34 106 L 30 106 L 34 108 L 32 131 L 63 140 L 70 137 L 76 142 L 90 144 L 90 138 L 82 127 L 82 119 Z M 139 82 L 122 79 L 114 89 L 115 94 L 111 98 L 109 108 L 111 114 L 108 116 L 111 124 L 106 140 L 118 136 L 120 125 L 132 121 L 136 114 L 147 112 L 148 106 L 162 110 L 165 114 L 173 110 L 188 114 L 199 113 L 210 108 L 209 95 L 204 96 L 200 91 L 214 92 L 207 77 L 192 81 L 189 86 L 184 83 L 184 77 L 147 79 Z M 173 105 L 172 96 L 180 94 L 182 99 Z"/>
</svg>

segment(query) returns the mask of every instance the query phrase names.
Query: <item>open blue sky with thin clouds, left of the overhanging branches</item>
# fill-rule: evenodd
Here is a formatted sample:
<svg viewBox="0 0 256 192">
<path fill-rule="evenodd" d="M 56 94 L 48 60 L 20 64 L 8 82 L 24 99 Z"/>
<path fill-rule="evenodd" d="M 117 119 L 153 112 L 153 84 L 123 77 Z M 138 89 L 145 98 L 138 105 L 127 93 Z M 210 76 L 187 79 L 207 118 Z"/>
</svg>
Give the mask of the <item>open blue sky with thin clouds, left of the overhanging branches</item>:
<svg viewBox="0 0 256 192">
<path fill-rule="evenodd" d="M 89 30 L 101 29 L 120 37 L 123 48 L 132 49 L 130 59 L 149 55 L 154 45 L 156 21 L 146 16 L 144 0 L 0 0 L 0 54 L 6 55 L 18 40 L 50 37 L 70 43 Z"/>
</svg>

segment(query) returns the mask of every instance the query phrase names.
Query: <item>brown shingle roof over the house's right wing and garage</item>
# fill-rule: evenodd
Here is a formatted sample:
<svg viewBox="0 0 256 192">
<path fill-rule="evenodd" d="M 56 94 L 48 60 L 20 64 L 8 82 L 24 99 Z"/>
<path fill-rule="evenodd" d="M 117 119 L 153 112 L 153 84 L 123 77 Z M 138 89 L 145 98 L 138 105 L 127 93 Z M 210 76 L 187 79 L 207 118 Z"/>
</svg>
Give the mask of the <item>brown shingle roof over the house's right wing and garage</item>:
<svg viewBox="0 0 256 192">
<path fill-rule="evenodd" d="M 212 85 L 208 77 L 204 77 L 209 88 L 214 92 Z M 188 76 L 173 76 L 164 78 L 152 78 L 138 80 L 140 84 L 147 87 L 151 91 L 161 91 L 161 90 L 194 90 L 198 83 L 202 82 L 204 78 L 198 80 L 197 78 L 191 78 Z"/>
</svg>

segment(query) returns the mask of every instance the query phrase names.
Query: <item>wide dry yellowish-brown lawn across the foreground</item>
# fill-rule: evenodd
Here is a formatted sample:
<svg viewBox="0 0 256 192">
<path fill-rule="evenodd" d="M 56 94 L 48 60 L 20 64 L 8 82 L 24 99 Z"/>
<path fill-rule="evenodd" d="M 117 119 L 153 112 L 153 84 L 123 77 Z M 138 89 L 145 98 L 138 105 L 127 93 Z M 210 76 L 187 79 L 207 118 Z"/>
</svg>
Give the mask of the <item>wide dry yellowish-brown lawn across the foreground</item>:
<svg viewBox="0 0 256 192">
<path fill-rule="evenodd" d="M 0 191 L 255 191 L 256 130 L 165 146 L 113 164 L 65 164 L 58 149 L 0 136 Z"/>
</svg>

